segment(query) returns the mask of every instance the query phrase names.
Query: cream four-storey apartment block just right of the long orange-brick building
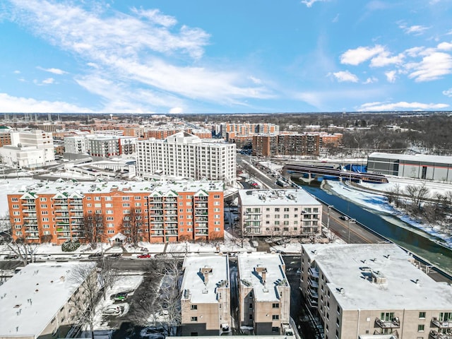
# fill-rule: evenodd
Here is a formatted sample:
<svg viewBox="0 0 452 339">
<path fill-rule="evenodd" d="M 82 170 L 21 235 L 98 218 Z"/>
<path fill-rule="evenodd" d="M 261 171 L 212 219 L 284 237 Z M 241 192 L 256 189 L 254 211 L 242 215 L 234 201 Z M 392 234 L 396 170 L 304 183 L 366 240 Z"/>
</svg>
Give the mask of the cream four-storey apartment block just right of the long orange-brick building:
<svg viewBox="0 0 452 339">
<path fill-rule="evenodd" d="M 322 204 L 303 189 L 241 189 L 239 215 L 246 236 L 321 234 Z"/>
</svg>

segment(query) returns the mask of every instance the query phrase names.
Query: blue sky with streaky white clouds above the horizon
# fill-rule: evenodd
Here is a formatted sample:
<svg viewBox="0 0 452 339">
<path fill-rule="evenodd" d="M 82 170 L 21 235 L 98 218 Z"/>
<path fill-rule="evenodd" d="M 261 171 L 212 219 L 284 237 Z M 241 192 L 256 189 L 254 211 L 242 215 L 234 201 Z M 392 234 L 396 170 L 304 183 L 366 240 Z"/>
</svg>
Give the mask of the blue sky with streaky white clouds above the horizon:
<svg viewBox="0 0 452 339">
<path fill-rule="evenodd" d="M 452 110 L 452 0 L 0 2 L 0 112 Z"/>
</svg>

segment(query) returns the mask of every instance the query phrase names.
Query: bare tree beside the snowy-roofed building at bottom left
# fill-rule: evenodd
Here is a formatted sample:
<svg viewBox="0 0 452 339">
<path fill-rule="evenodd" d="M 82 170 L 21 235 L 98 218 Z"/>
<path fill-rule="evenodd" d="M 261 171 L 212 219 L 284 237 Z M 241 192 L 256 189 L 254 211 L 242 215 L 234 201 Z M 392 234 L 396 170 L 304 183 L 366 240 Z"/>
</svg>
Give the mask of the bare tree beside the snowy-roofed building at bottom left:
<svg viewBox="0 0 452 339">
<path fill-rule="evenodd" d="M 94 339 L 95 309 L 100 298 L 100 283 L 95 264 L 81 263 L 75 266 L 71 270 L 69 280 L 81 286 L 79 288 L 81 299 L 74 305 L 76 313 L 73 320 L 80 325 L 88 326 L 91 338 Z"/>
</svg>

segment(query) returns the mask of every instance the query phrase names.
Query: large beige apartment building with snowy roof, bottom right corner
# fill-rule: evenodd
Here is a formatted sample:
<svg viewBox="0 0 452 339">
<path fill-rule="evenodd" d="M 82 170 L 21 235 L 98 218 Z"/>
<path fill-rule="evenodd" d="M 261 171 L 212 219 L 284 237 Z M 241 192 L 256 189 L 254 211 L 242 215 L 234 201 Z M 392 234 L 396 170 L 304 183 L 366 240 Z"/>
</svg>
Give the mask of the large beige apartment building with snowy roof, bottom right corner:
<svg viewBox="0 0 452 339">
<path fill-rule="evenodd" d="M 415 264 L 396 244 L 303 245 L 300 288 L 326 339 L 452 338 L 452 287 Z"/>
</svg>

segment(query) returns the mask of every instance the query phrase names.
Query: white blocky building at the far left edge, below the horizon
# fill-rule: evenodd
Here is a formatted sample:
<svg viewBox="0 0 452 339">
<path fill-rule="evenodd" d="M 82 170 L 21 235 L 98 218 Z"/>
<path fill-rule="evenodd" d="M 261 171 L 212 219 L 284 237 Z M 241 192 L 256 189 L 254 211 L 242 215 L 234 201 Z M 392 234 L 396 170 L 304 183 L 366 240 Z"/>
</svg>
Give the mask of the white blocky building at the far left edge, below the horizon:
<svg viewBox="0 0 452 339">
<path fill-rule="evenodd" d="M 11 131 L 11 145 L 0 148 L 0 156 L 12 167 L 37 168 L 55 161 L 52 133 L 40 130 Z"/>
</svg>

